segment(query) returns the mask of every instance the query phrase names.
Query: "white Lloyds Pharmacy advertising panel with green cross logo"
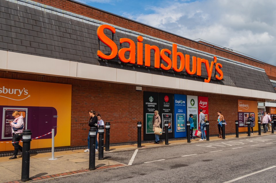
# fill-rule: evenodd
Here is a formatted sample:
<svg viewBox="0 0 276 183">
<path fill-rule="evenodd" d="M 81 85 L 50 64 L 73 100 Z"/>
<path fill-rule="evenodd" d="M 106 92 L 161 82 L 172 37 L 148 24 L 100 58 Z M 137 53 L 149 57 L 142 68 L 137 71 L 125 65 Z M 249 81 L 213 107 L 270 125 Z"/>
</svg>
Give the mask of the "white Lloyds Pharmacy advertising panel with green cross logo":
<svg viewBox="0 0 276 183">
<path fill-rule="evenodd" d="M 198 129 L 198 96 L 187 95 L 187 121 L 190 114 L 193 114 L 194 129 Z"/>
</svg>

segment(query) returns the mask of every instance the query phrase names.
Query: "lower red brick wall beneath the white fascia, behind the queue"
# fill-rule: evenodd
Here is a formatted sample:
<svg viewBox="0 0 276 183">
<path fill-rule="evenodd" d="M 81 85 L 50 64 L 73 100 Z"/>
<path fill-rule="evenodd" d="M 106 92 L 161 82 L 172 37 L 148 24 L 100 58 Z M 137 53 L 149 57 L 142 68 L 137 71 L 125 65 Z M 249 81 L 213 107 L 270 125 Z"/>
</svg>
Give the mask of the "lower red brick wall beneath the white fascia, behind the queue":
<svg viewBox="0 0 276 183">
<path fill-rule="evenodd" d="M 96 110 L 104 122 L 110 122 L 110 143 L 136 141 L 137 121 L 143 122 L 143 91 L 208 97 L 210 135 L 218 134 L 217 111 L 221 111 L 227 121 L 226 133 L 235 133 L 237 99 L 248 100 L 242 97 L 152 87 L 143 87 L 143 91 L 136 91 L 135 86 L 128 84 L 17 72 L 0 71 L 0 77 L 72 84 L 71 146 L 87 145 L 90 110 Z"/>
</svg>

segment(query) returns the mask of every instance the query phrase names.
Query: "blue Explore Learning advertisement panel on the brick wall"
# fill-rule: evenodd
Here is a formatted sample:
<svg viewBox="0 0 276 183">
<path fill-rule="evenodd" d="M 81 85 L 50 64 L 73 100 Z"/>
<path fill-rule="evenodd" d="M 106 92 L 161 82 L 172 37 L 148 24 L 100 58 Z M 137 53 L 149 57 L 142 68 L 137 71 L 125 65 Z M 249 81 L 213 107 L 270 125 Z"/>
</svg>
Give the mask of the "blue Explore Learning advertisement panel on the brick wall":
<svg viewBox="0 0 276 183">
<path fill-rule="evenodd" d="M 175 107 L 175 138 L 187 137 L 186 129 L 186 95 L 174 95 L 174 107 Z"/>
</svg>

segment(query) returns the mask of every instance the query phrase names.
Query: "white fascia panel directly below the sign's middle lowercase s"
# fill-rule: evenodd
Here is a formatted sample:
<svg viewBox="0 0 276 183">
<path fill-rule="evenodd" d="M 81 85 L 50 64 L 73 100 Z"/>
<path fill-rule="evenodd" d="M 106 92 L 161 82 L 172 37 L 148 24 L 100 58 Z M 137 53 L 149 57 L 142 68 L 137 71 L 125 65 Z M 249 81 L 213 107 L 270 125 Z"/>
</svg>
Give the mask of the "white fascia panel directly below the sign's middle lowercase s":
<svg viewBox="0 0 276 183">
<path fill-rule="evenodd" d="M 175 88 L 175 78 L 152 74 L 152 86 Z"/>
</svg>

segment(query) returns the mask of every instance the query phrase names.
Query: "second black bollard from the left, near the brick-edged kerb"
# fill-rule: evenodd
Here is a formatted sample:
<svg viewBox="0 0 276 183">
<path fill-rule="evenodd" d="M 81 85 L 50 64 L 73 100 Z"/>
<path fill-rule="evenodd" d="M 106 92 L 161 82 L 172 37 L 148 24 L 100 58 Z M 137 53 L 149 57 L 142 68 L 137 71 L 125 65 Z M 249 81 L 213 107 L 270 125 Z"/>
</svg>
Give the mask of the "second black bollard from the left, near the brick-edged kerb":
<svg viewBox="0 0 276 183">
<path fill-rule="evenodd" d="M 89 130 L 89 170 L 95 170 L 95 149 L 96 149 L 96 128 L 90 127 Z"/>
</svg>

